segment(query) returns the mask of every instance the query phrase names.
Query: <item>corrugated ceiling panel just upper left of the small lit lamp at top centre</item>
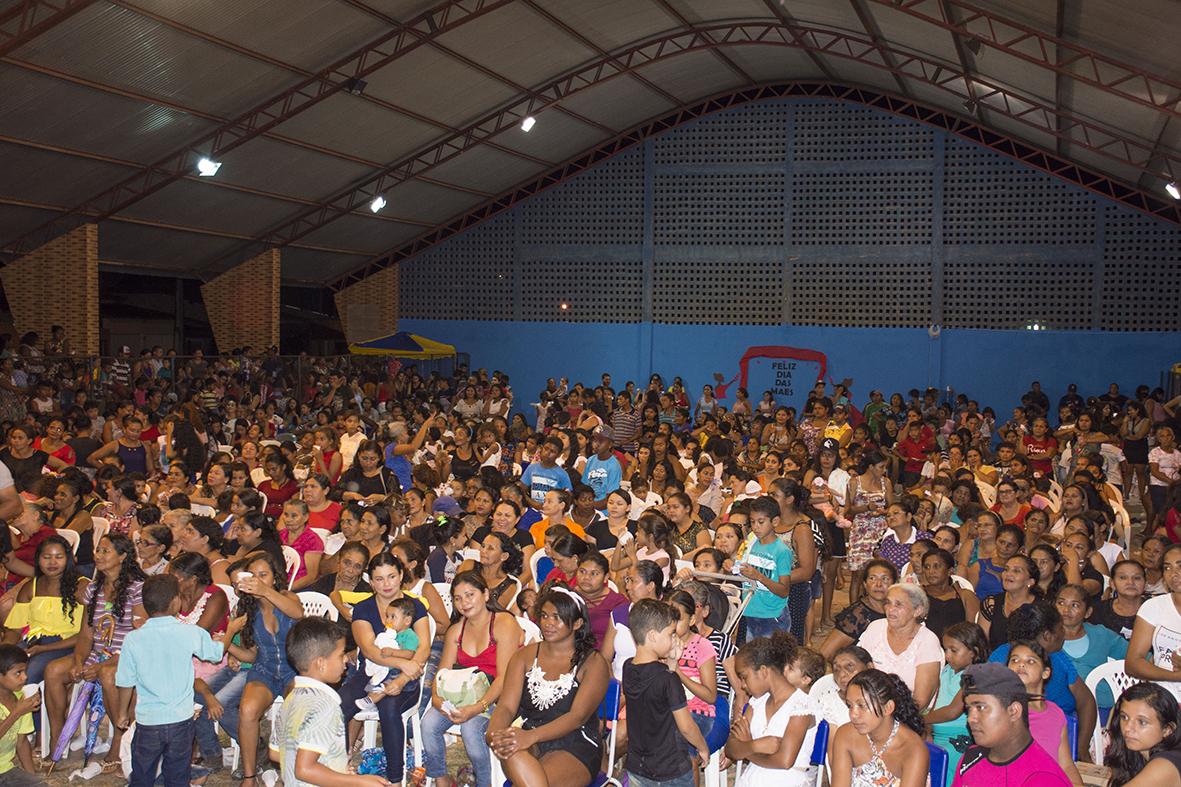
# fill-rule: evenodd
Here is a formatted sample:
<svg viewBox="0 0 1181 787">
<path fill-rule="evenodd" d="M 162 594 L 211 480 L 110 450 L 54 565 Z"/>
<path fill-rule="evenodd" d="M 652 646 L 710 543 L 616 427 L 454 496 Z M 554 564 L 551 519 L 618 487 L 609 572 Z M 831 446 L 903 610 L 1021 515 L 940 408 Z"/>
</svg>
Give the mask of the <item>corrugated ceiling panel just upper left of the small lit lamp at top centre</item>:
<svg viewBox="0 0 1181 787">
<path fill-rule="evenodd" d="M 516 95 L 504 83 L 429 46 L 371 74 L 365 92 L 457 128 Z"/>
</svg>

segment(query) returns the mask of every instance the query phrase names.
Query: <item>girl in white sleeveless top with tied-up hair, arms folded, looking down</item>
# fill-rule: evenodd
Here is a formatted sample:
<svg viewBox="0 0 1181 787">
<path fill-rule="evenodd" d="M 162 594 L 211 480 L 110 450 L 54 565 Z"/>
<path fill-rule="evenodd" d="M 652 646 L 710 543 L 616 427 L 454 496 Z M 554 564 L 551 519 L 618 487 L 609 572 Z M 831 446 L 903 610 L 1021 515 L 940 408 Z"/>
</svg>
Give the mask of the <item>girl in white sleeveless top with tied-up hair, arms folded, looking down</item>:
<svg viewBox="0 0 1181 787">
<path fill-rule="evenodd" d="M 751 639 L 735 658 L 738 682 L 751 697 L 726 741 L 726 755 L 749 763 L 735 787 L 803 787 L 816 779 L 815 773 L 808 774 L 816 737 L 816 703 L 783 675 L 797 651 L 795 637 L 776 631 Z"/>
</svg>

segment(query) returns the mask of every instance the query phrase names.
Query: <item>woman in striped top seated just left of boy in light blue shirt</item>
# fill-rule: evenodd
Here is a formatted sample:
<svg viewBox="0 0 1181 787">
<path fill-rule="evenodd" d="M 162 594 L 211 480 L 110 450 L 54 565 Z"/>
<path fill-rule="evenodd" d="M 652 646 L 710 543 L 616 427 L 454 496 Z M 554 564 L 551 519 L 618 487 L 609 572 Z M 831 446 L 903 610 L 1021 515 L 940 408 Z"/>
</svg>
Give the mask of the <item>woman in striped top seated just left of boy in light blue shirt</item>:
<svg viewBox="0 0 1181 787">
<path fill-rule="evenodd" d="M 94 581 L 83 596 L 85 614 L 73 653 L 50 662 L 45 668 L 45 703 L 50 717 L 51 746 L 66 717 L 70 687 L 77 681 L 98 681 L 103 700 L 115 708 L 115 670 L 119 664 L 123 639 L 135 622 L 146 620 L 142 603 L 144 574 L 136 560 L 136 548 L 125 535 L 110 534 L 94 547 Z M 116 729 L 111 753 L 103 769 L 119 767 L 119 742 L 123 730 Z"/>
</svg>

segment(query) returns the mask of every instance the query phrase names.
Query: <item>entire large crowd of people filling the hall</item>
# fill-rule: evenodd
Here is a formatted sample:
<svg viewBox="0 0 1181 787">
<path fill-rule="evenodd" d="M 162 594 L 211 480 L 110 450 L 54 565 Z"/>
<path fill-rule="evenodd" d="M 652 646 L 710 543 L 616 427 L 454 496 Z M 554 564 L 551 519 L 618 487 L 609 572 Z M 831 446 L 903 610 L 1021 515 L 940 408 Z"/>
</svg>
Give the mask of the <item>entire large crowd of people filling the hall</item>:
<svg viewBox="0 0 1181 787">
<path fill-rule="evenodd" d="M 800 411 L 659 375 L 524 403 L 334 363 L 0 356 L 0 786 L 68 750 L 80 685 L 96 768 L 135 785 L 226 741 L 248 787 L 808 785 L 822 724 L 836 787 L 916 787 L 932 750 L 947 785 L 1102 755 L 1113 787 L 1181 782 L 1159 389 L 1033 383 L 1001 418 L 848 379 Z M 1136 685 L 1088 688 L 1113 661 Z"/>
</svg>

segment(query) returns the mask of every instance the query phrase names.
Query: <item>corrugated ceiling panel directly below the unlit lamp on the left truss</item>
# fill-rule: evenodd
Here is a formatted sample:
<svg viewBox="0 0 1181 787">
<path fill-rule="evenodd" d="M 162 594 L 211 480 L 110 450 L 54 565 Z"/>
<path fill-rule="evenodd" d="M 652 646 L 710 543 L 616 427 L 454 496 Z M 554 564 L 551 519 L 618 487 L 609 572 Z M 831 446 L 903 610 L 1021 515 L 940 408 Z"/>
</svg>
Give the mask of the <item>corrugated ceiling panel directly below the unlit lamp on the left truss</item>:
<svg viewBox="0 0 1181 787">
<path fill-rule="evenodd" d="M 335 93 L 300 112 L 280 132 L 376 162 L 391 162 L 441 136 L 438 129 L 372 102 Z"/>
</svg>

